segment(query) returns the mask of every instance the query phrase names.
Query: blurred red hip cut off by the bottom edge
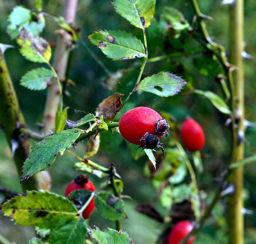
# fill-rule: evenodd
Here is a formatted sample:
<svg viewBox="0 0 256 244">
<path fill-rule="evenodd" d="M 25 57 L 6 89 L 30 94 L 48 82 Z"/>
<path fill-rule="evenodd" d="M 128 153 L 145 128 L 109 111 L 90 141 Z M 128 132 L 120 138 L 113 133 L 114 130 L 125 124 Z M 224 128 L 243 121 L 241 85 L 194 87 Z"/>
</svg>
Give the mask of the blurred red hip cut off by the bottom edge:
<svg viewBox="0 0 256 244">
<path fill-rule="evenodd" d="M 193 225 L 188 220 L 178 221 L 171 229 L 167 244 L 178 244 L 193 230 Z M 195 241 L 195 236 L 191 236 L 185 244 Z"/>
</svg>

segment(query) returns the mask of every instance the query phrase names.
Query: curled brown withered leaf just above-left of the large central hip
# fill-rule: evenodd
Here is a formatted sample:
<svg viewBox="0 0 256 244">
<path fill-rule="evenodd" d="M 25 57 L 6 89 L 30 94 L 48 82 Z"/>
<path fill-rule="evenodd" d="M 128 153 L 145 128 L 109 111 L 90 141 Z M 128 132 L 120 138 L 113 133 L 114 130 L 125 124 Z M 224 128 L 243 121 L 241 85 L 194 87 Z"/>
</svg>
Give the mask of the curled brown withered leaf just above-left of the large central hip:
<svg viewBox="0 0 256 244">
<path fill-rule="evenodd" d="M 95 116 L 100 117 L 103 115 L 104 119 L 113 118 L 116 113 L 123 107 L 121 97 L 124 94 L 114 93 L 112 96 L 105 98 L 95 111 Z"/>
</svg>

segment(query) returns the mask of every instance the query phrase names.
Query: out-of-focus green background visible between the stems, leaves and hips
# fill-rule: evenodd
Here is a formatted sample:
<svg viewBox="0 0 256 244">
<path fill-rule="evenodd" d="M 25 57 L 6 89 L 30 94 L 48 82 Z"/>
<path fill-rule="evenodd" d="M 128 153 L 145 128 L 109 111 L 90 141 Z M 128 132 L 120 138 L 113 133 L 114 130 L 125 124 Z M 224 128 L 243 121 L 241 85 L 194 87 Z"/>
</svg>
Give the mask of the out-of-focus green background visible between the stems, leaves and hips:
<svg viewBox="0 0 256 244">
<path fill-rule="evenodd" d="M 64 1 L 60 0 L 44 0 L 43 11 L 54 16 L 61 15 L 61 9 Z M 221 1 L 204 0 L 198 1 L 203 14 L 212 16 L 213 21 L 206 20 L 207 29 L 213 41 L 227 48 L 228 53 L 228 6 L 221 5 Z M 39 132 L 38 123 L 42 122 L 43 109 L 46 99 L 46 90 L 31 91 L 19 85 L 21 77 L 29 70 L 40 67 L 37 63 L 27 61 L 20 55 L 17 43 L 10 40 L 6 34 L 7 18 L 13 7 L 16 5 L 24 5 L 27 8 L 34 9 L 32 0 L 0 0 L 0 42 L 4 44 L 14 45 L 15 48 L 6 51 L 6 61 L 13 79 L 17 96 L 20 101 L 20 107 L 24 113 L 28 127 Z M 160 14 L 164 6 L 171 6 L 179 9 L 185 18 L 192 23 L 193 16 L 191 8 L 186 1 L 168 1 L 157 0 L 156 13 L 154 21 L 160 20 Z M 256 2 L 254 0 L 245 1 L 245 41 L 246 51 L 250 55 L 256 56 Z M 128 60 L 123 62 L 114 62 L 106 58 L 105 55 L 96 47 L 91 45 L 87 36 L 98 30 L 125 30 L 138 34 L 138 30 L 133 27 L 113 9 L 110 1 L 106 0 L 81 0 L 79 1 L 75 26 L 81 29 L 81 34 L 77 47 L 73 53 L 73 61 L 70 72 L 70 79 L 76 85 L 70 85 L 68 90 L 70 96 L 64 98 L 65 106 L 69 107 L 69 119 L 76 121 L 87 113 L 94 113 L 98 104 L 109 95 L 113 94 L 108 90 L 103 81 L 107 78 L 107 73 L 89 53 L 91 50 L 98 58 L 105 69 L 109 72 L 115 72 L 118 69 L 127 69 L 132 64 L 139 62 L 139 59 Z M 152 29 L 150 29 L 152 28 Z M 54 52 L 54 44 L 57 34 L 54 31 L 58 29 L 56 23 L 46 19 L 46 28 L 42 36 L 52 45 Z M 154 34 L 154 25 L 148 28 Z M 152 34 L 152 35 L 153 35 Z M 139 35 L 139 34 L 138 34 Z M 149 56 L 159 55 L 159 50 L 154 50 L 154 35 L 149 40 Z M 171 71 L 178 75 L 185 74 L 191 79 L 192 85 L 201 90 L 212 90 L 217 94 L 221 94 L 219 88 L 214 84 L 213 77 L 203 76 L 198 72 L 193 64 L 192 56 L 169 58 L 161 62 L 149 63 L 145 69 L 145 75 L 152 75 L 161 70 Z M 180 70 L 179 66 L 175 70 L 175 62 L 181 62 L 187 67 L 187 71 Z M 138 66 L 140 67 L 140 66 Z M 131 91 L 135 80 L 137 79 L 139 69 L 133 69 L 121 82 L 118 92 L 124 93 L 126 97 Z M 180 73 L 182 72 L 182 74 Z M 255 61 L 245 61 L 245 113 L 249 121 L 256 122 L 256 83 L 255 81 Z M 203 159 L 204 174 L 201 177 L 201 187 L 209 195 L 216 189 L 217 182 L 213 179 L 218 177 L 226 168 L 227 161 L 227 130 L 225 130 L 225 117 L 219 113 L 212 104 L 198 95 L 190 94 L 182 96 L 174 96 L 169 98 L 160 98 L 153 94 L 141 93 L 134 94 L 130 101 L 124 106 L 121 112 L 137 106 L 148 106 L 158 112 L 168 112 L 176 118 L 177 123 L 181 124 L 187 115 L 194 117 L 202 127 L 206 134 L 206 145 L 202 149 L 202 154 L 207 154 Z M 245 156 L 256 152 L 256 129 L 248 128 L 246 131 Z M 76 154 L 83 156 L 84 146 L 79 144 L 76 148 Z M 129 219 L 122 221 L 122 228 L 129 234 L 135 243 L 154 243 L 161 233 L 164 226 L 149 217 L 143 216 L 134 210 L 134 207 L 140 203 L 150 203 L 160 212 L 161 207 L 157 205 L 157 193 L 152 186 L 150 179 L 144 176 L 144 165 L 147 161 L 146 157 L 140 157 L 134 160 L 126 142 L 121 135 L 117 133 L 112 136 L 111 132 L 102 135 L 102 145 L 100 151 L 92 160 L 108 167 L 110 163 L 115 163 L 117 172 L 122 176 L 124 181 L 124 195 L 129 195 L 132 200 L 126 199 L 127 214 Z M 7 189 L 20 192 L 19 177 L 15 170 L 13 161 L 10 157 L 10 150 L 5 141 L 4 134 L 0 130 L 0 185 Z M 134 148 L 132 150 L 135 150 Z M 134 151 L 133 151 L 134 153 Z M 72 170 L 72 165 L 76 160 L 69 154 L 63 156 L 58 155 L 54 164 L 49 171 L 52 176 L 52 191 L 58 194 L 64 194 L 65 187 L 78 173 Z M 91 180 L 95 183 L 96 188 L 100 186 L 102 179 L 90 175 Z M 252 214 L 245 215 L 246 227 L 246 244 L 256 243 L 256 164 L 249 164 L 245 167 L 244 177 L 244 196 L 245 208 L 252 211 Z M 201 243 L 226 243 L 226 224 L 223 218 L 225 210 L 223 209 L 225 199 L 222 204 L 216 207 L 216 213 L 211 217 L 202 232 L 194 242 Z M 90 219 L 91 226 L 98 226 L 103 229 L 106 227 L 114 228 L 113 222 L 106 221 L 95 211 Z M 28 243 L 31 234 L 31 228 L 19 227 L 13 225 L 8 218 L 0 215 L 0 233 L 14 243 Z"/>
</svg>

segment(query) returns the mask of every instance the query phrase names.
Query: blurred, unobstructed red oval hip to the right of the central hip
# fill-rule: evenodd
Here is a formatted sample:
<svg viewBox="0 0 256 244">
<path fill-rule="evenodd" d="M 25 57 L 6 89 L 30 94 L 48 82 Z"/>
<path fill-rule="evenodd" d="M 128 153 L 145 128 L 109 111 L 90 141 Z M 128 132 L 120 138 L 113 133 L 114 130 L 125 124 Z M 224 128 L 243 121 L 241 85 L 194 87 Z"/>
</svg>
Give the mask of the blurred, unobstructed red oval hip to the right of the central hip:
<svg viewBox="0 0 256 244">
<path fill-rule="evenodd" d="M 202 127 L 193 118 L 186 118 L 180 128 L 180 136 L 184 146 L 194 152 L 204 146 L 205 136 Z"/>
</svg>

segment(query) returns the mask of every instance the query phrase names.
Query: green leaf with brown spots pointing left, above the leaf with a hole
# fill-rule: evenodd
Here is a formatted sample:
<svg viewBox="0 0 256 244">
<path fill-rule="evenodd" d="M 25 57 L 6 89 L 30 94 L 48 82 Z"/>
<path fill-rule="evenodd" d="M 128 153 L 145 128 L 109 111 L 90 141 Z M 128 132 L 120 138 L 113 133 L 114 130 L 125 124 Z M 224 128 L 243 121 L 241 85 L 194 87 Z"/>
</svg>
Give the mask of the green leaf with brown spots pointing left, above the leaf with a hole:
<svg viewBox="0 0 256 244">
<path fill-rule="evenodd" d="M 145 57 L 145 48 L 132 34 L 121 30 L 98 31 L 88 36 L 91 43 L 114 61 Z"/>
</svg>

